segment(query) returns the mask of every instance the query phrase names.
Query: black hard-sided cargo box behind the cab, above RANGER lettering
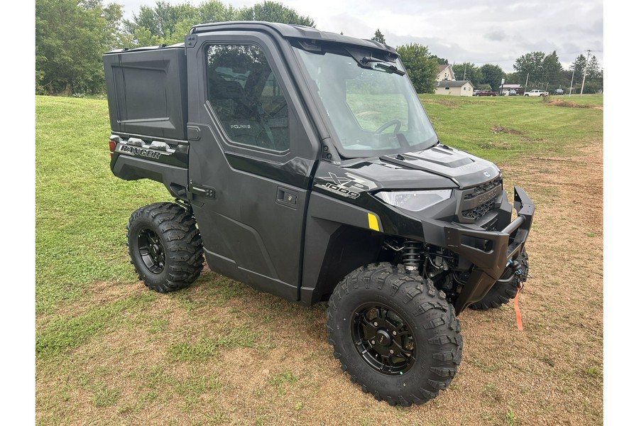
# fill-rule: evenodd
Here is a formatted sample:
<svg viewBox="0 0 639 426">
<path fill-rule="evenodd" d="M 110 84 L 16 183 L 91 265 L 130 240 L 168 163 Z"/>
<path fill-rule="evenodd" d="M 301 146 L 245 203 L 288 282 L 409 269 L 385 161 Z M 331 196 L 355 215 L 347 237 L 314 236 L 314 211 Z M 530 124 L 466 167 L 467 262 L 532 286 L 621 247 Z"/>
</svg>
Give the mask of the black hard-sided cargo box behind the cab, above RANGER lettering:
<svg viewBox="0 0 639 426">
<path fill-rule="evenodd" d="M 102 58 L 113 133 L 186 140 L 183 44 L 115 50 Z"/>
</svg>

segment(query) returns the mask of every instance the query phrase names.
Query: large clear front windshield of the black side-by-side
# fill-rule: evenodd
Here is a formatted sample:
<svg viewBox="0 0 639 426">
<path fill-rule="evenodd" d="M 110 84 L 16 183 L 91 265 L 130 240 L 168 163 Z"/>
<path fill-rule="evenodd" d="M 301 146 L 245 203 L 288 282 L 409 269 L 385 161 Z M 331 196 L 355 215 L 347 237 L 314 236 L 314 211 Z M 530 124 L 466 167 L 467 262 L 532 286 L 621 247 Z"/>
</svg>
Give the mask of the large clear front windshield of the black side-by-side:
<svg viewBox="0 0 639 426">
<path fill-rule="evenodd" d="M 357 58 L 343 48 L 296 48 L 346 158 L 420 151 L 437 143 L 400 62 Z M 364 66 L 360 66 L 363 63 Z"/>
</svg>

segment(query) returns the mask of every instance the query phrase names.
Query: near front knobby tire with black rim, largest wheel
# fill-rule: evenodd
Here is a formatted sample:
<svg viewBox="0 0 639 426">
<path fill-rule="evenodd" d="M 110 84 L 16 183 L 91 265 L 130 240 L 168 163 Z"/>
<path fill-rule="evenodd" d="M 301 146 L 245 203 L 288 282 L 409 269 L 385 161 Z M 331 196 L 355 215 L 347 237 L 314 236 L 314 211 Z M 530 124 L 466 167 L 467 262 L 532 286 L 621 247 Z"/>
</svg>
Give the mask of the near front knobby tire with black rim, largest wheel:
<svg viewBox="0 0 639 426">
<path fill-rule="evenodd" d="M 327 331 L 351 381 L 391 405 L 435 398 L 461 361 L 454 308 L 402 265 L 369 265 L 346 275 L 330 297 Z"/>
</svg>

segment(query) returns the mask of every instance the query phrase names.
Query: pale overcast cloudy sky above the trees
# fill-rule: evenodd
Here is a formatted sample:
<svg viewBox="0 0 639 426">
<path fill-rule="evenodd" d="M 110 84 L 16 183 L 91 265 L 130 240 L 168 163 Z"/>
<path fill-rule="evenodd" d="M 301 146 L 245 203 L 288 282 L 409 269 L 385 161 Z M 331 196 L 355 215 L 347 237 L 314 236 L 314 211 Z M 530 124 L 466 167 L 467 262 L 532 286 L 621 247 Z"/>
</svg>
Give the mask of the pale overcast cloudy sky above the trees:
<svg viewBox="0 0 639 426">
<path fill-rule="evenodd" d="M 112 0 L 124 4 L 126 18 L 155 0 Z M 186 0 L 165 0 L 183 4 Z M 275 0 L 278 1 L 278 0 Z M 202 1 L 191 0 L 197 5 Z M 257 0 L 222 0 L 235 7 Z M 379 29 L 386 44 L 427 45 L 432 55 L 449 63 L 499 65 L 513 72 L 525 53 L 557 50 L 568 68 L 579 54 L 591 50 L 603 64 L 603 0 L 281 0 L 322 31 L 372 38 Z M 605 67 L 604 67 L 605 69 Z"/>
</svg>

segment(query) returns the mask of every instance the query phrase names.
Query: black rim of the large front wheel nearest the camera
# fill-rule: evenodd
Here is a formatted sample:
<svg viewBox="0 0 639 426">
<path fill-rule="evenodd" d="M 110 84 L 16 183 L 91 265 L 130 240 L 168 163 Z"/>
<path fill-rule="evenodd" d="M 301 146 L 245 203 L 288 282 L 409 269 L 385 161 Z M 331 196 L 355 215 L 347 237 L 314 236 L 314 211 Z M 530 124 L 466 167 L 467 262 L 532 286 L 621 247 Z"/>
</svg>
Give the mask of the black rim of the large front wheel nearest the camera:
<svg viewBox="0 0 639 426">
<path fill-rule="evenodd" d="M 386 305 L 368 303 L 355 310 L 351 337 L 366 364 L 387 376 L 405 374 L 415 364 L 417 345 L 413 332 Z"/>
</svg>

